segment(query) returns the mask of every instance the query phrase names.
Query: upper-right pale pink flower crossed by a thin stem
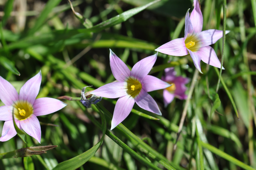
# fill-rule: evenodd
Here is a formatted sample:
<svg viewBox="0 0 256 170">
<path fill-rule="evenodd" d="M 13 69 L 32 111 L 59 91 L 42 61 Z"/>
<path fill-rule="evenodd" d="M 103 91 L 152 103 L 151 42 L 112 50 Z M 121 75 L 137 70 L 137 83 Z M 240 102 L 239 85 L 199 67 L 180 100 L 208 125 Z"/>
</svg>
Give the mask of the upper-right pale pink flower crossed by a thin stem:
<svg viewBox="0 0 256 170">
<path fill-rule="evenodd" d="M 210 64 L 214 67 L 221 67 L 214 49 L 209 45 L 216 43 L 222 38 L 221 30 L 205 30 L 203 28 L 203 16 L 199 7 L 198 0 L 194 0 L 194 9 L 189 17 L 187 11 L 185 17 L 185 35 L 184 38 L 177 38 L 155 49 L 161 53 L 174 56 L 184 56 L 190 54 L 196 69 L 200 73 L 200 61 Z M 226 31 L 228 34 L 230 31 Z M 224 69 L 222 67 L 222 69 Z"/>
</svg>

